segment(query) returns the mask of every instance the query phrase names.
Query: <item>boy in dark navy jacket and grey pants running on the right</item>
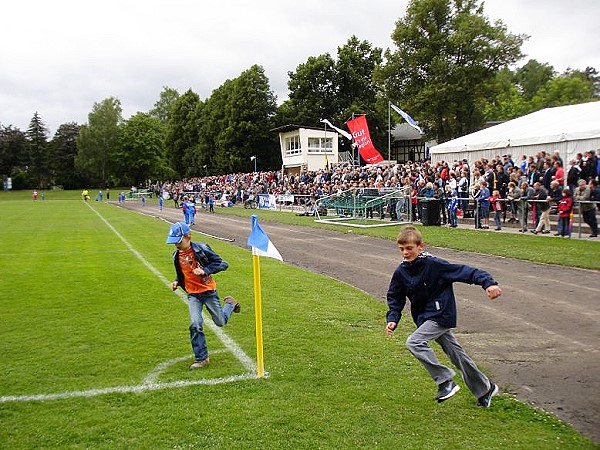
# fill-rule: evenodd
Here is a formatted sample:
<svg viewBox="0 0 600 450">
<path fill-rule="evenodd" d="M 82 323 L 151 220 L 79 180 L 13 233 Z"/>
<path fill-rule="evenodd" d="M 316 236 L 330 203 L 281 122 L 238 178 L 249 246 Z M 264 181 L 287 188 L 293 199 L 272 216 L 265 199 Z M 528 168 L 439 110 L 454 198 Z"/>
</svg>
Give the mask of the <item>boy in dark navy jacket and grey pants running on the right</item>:
<svg viewBox="0 0 600 450">
<path fill-rule="evenodd" d="M 408 337 L 406 345 L 438 384 L 435 400 L 441 403 L 449 399 L 460 386 L 453 380 L 456 372 L 440 363 L 429 346 L 429 342 L 434 340 L 460 370 L 465 384 L 477 397 L 477 406 L 489 407 L 492 397 L 498 393 L 498 386 L 477 368 L 452 333 L 452 328 L 456 327 L 456 300 L 452 284 L 477 284 L 492 300 L 502 295 L 502 289 L 483 270 L 451 264 L 424 252 L 423 238 L 415 227 L 404 227 L 398 235 L 397 244 L 403 261 L 394 271 L 387 292 L 387 334 L 391 335 L 398 326 L 408 298 L 417 330 Z"/>
</svg>

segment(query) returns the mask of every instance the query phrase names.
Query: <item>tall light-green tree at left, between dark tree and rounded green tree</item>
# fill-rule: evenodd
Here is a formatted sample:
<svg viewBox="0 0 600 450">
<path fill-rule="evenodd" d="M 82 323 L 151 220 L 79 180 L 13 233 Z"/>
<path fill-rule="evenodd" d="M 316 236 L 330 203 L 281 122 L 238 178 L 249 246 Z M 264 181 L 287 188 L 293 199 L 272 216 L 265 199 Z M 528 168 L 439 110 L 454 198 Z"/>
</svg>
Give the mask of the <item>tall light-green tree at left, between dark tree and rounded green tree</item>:
<svg viewBox="0 0 600 450">
<path fill-rule="evenodd" d="M 104 99 L 94 103 L 88 114 L 88 124 L 81 127 L 75 165 L 91 183 L 107 185 L 113 175 L 110 162 L 118 145 L 119 124 L 123 121 L 121 113 L 119 99 Z"/>
</svg>

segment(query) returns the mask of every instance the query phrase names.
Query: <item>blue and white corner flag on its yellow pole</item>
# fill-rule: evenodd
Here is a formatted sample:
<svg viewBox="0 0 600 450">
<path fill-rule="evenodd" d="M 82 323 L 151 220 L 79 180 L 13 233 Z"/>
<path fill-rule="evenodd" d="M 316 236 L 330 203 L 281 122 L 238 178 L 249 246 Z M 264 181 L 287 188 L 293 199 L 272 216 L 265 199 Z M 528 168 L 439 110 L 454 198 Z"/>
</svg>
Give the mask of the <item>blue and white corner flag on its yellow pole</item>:
<svg viewBox="0 0 600 450">
<path fill-rule="evenodd" d="M 267 233 L 258 224 L 256 214 L 251 218 L 250 236 L 247 245 L 252 247 L 252 269 L 254 272 L 254 316 L 256 321 L 256 376 L 264 378 L 265 363 L 262 332 L 262 295 L 260 286 L 260 256 L 283 261 L 277 248 L 271 243 Z"/>
</svg>

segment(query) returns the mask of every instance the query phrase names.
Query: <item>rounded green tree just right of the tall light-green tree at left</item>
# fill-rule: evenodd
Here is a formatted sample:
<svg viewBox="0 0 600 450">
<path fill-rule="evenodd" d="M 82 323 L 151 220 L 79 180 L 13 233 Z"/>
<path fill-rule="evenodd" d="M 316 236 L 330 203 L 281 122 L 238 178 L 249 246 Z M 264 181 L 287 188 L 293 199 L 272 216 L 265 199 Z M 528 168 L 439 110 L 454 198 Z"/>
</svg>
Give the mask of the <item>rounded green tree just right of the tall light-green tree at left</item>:
<svg viewBox="0 0 600 450">
<path fill-rule="evenodd" d="M 149 179 L 165 179 L 167 169 L 164 125 L 150 114 L 137 113 L 119 127 L 119 149 L 114 154 L 119 180 L 139 185 Z"/>
</svg>

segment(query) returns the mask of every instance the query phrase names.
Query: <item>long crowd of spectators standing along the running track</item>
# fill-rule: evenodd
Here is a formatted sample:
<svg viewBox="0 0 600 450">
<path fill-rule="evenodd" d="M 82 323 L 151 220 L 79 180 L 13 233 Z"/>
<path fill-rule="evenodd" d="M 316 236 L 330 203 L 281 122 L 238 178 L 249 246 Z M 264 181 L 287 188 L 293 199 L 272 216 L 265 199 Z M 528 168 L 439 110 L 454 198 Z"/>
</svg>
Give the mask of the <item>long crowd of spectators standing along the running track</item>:
<svg viewBox="0 0 600 450">
<path fill-rule="evenodd" d="M 473 162 L 462 159 L 359 167 L 340 164 L 299 174 L 233 173 L 148 182 L 146 187 L 157 195 L 167 192 L 175 206 L 179 206 L 184 195 L 192 196 L 196 202 L 231 206 L 244 204 L 259 194 L 287 194 L 294 196 L 296 202 L 314 204 L 320 198 L 353 189 L 356 192 L 376 189 L 381 193 L 402 190 L 413 206 L 413 221 L 422 219 L 419 203 L 434 198 L 442 205 L 442 224 L 456 226 L 455 216 L 462 213 L 472 214 L 476 227 L 489 228 L 489 215 L 493 213 L 496 230 L 501 230 L 506 222 L 519 222 L 522 232 L 535 234 L 550 232 L 549 211 L 558 208 L 567 197 L 581 208 L 591 237 L 595 237 L 598 226 L 596 204 L 592 202 L 600 202 L 599 171 L 598 156 L 593 150 L 578 153 L 566 165 L 558 151 L 540 151 L 536 155 L 523 155 L 518 161 L 507 154 Z M 572 216 L 572 209 L 571 206 L 568 217 Z M 394 211 L 388 213 L 397 219 Z M 532 228 L 528 229 L 528 225 Z M 564 235 L 568 227 L 561 216 L 555 234 Z"/>
</svg>

